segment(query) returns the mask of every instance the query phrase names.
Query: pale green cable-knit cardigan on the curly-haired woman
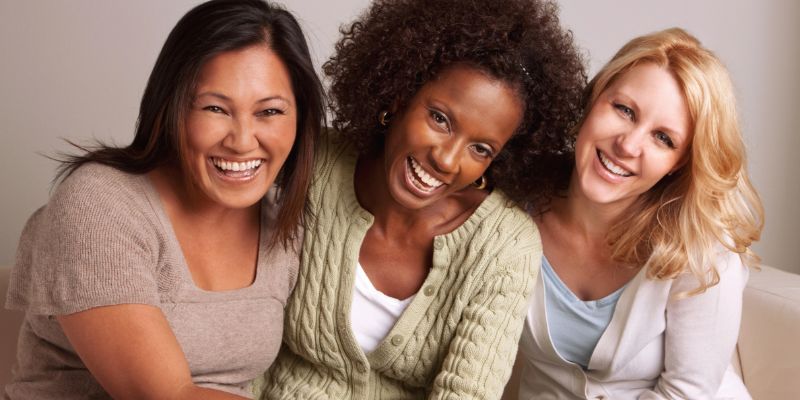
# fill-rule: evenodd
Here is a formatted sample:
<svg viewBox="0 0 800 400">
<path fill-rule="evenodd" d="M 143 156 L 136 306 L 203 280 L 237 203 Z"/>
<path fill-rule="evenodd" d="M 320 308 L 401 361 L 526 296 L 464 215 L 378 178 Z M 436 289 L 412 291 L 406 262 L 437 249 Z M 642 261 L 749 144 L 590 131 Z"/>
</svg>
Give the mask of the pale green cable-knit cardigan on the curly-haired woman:
<svg viewBox="0 0 800 400">
<path fill-rule="evenodd" d="M 266 399 L 497 399 L 539 272 L 538 231 L 495 191 L 434 240 L 433 268 L 397 324 L 364 354 L 350 328 L 355 263 L 373 217 L 353 189 L 356 155 L 322 144 L 284 345 Z"/>
</svg>

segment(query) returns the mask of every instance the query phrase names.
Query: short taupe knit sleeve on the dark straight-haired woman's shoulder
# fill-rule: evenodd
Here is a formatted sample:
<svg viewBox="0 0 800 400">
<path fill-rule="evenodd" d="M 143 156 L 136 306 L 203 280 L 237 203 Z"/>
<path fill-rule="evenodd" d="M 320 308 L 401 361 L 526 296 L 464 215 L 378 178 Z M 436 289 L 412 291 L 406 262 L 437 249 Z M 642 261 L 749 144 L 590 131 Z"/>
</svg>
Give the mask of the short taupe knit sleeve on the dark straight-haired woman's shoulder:
<svg viewBox="0 0 800 400">
<path fill-rule="evenodd" d="M 80 167 L 28 220 L 6 306 L 39 315 L 158 305 L 159 239 L 142 176 Z"/>
</svg>

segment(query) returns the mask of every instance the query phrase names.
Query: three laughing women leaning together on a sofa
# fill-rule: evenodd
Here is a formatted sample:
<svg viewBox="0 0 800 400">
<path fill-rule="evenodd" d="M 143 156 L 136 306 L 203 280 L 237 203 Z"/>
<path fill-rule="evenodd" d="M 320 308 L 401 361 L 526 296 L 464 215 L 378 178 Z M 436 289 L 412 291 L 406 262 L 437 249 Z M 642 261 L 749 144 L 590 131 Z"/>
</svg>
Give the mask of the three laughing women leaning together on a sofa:
<svg viewBox="0 0 800 400">
<path fill-rule="evenodd" d="M 317 150 L 264 397 L 496 397 L 535 285 L 524 395 L 746 394 L 723 378 L 746 280 L 731 252 L 761 210 L 727 76 L 693 38 L 634 41 L 593 81 L 552 202 L 583 79 L 552 4 L 376 2 L 325 68 L 340 133 Z M 28 353 L 7 393 L 246 396 L 277 349 L 321 117 L 288 14 L 187 14 L 134 142 L 73 159 L 26 227 L 9 304 Z M 506 195 L 536 215 L 541 280 Z"/>
</svg>

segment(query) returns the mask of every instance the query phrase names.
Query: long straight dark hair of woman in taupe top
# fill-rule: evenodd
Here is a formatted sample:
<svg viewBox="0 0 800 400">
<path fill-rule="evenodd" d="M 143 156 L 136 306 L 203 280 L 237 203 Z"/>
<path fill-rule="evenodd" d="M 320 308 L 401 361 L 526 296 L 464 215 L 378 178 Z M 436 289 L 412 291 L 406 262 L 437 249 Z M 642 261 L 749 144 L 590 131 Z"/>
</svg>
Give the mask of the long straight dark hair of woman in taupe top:
<svg viewBox="0 0 800 400">
<path fill-rule="evenodd" d="M 147 81 L 133 142 L 99 143 L 62 157 L 56 179 L 87 162 L 143 174 L 178 166 L 188 180 L 184 121 L 203 65 L 214 56 L 254 45 L 269 47 L 286 65 L 297 100 L 297 135 L 276 184 L 280 188 L 275 237 L 286 246 L 297 236 L 313 169 L 314 147 L 324 123 L 322 85 L 303 31 L 288 11 L 262 0 L 212 0 L 190 10 L 172 29 Z"/>
</svg>

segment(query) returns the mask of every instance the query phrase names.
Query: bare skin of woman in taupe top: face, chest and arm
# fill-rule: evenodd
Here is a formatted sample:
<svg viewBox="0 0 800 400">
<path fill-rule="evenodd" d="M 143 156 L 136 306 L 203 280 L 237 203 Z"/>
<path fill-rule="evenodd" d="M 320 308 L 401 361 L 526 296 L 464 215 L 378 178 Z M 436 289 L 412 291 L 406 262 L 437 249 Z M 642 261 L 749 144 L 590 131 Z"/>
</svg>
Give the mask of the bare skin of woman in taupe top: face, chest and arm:
<svg viewBox="0 0 800 400">
<path fill-rule="evenodd" d="M 221 53 L 204 65 L 185 121 L 192 185 L 175 168 L 149 174 L 198 287 L 230 290 L 255 279 L 259 202 L 291 149 L 294 115 L 286 68 L 267 47 Z M 226 179 L 210 157 L 263 163 L 248 179 Z M 186 357 L 157 307 L 98 307 L 58 321 L 114 398 L 240 398 L 192 383 Z"/>
</svg>

